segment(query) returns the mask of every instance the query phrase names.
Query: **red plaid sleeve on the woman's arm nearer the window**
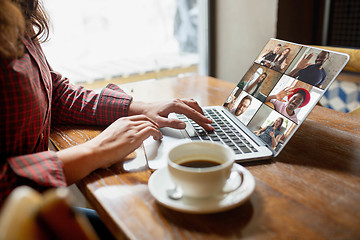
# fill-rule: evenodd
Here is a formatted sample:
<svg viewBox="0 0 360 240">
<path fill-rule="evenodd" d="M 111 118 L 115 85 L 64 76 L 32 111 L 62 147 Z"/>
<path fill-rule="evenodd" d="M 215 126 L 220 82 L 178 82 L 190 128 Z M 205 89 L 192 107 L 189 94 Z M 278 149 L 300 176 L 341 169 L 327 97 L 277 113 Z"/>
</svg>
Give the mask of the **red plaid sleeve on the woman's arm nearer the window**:
<svg viewBox="0 0 360 240">
<path fill-rule="evenodd" d="M 81 124 L 106 126 L 127 116 L 132 97 L 114 84 L 109 84 L 100 94 L 74 86 L 67 78 L 52 72 L 53 124 Z"/>
</svg>

